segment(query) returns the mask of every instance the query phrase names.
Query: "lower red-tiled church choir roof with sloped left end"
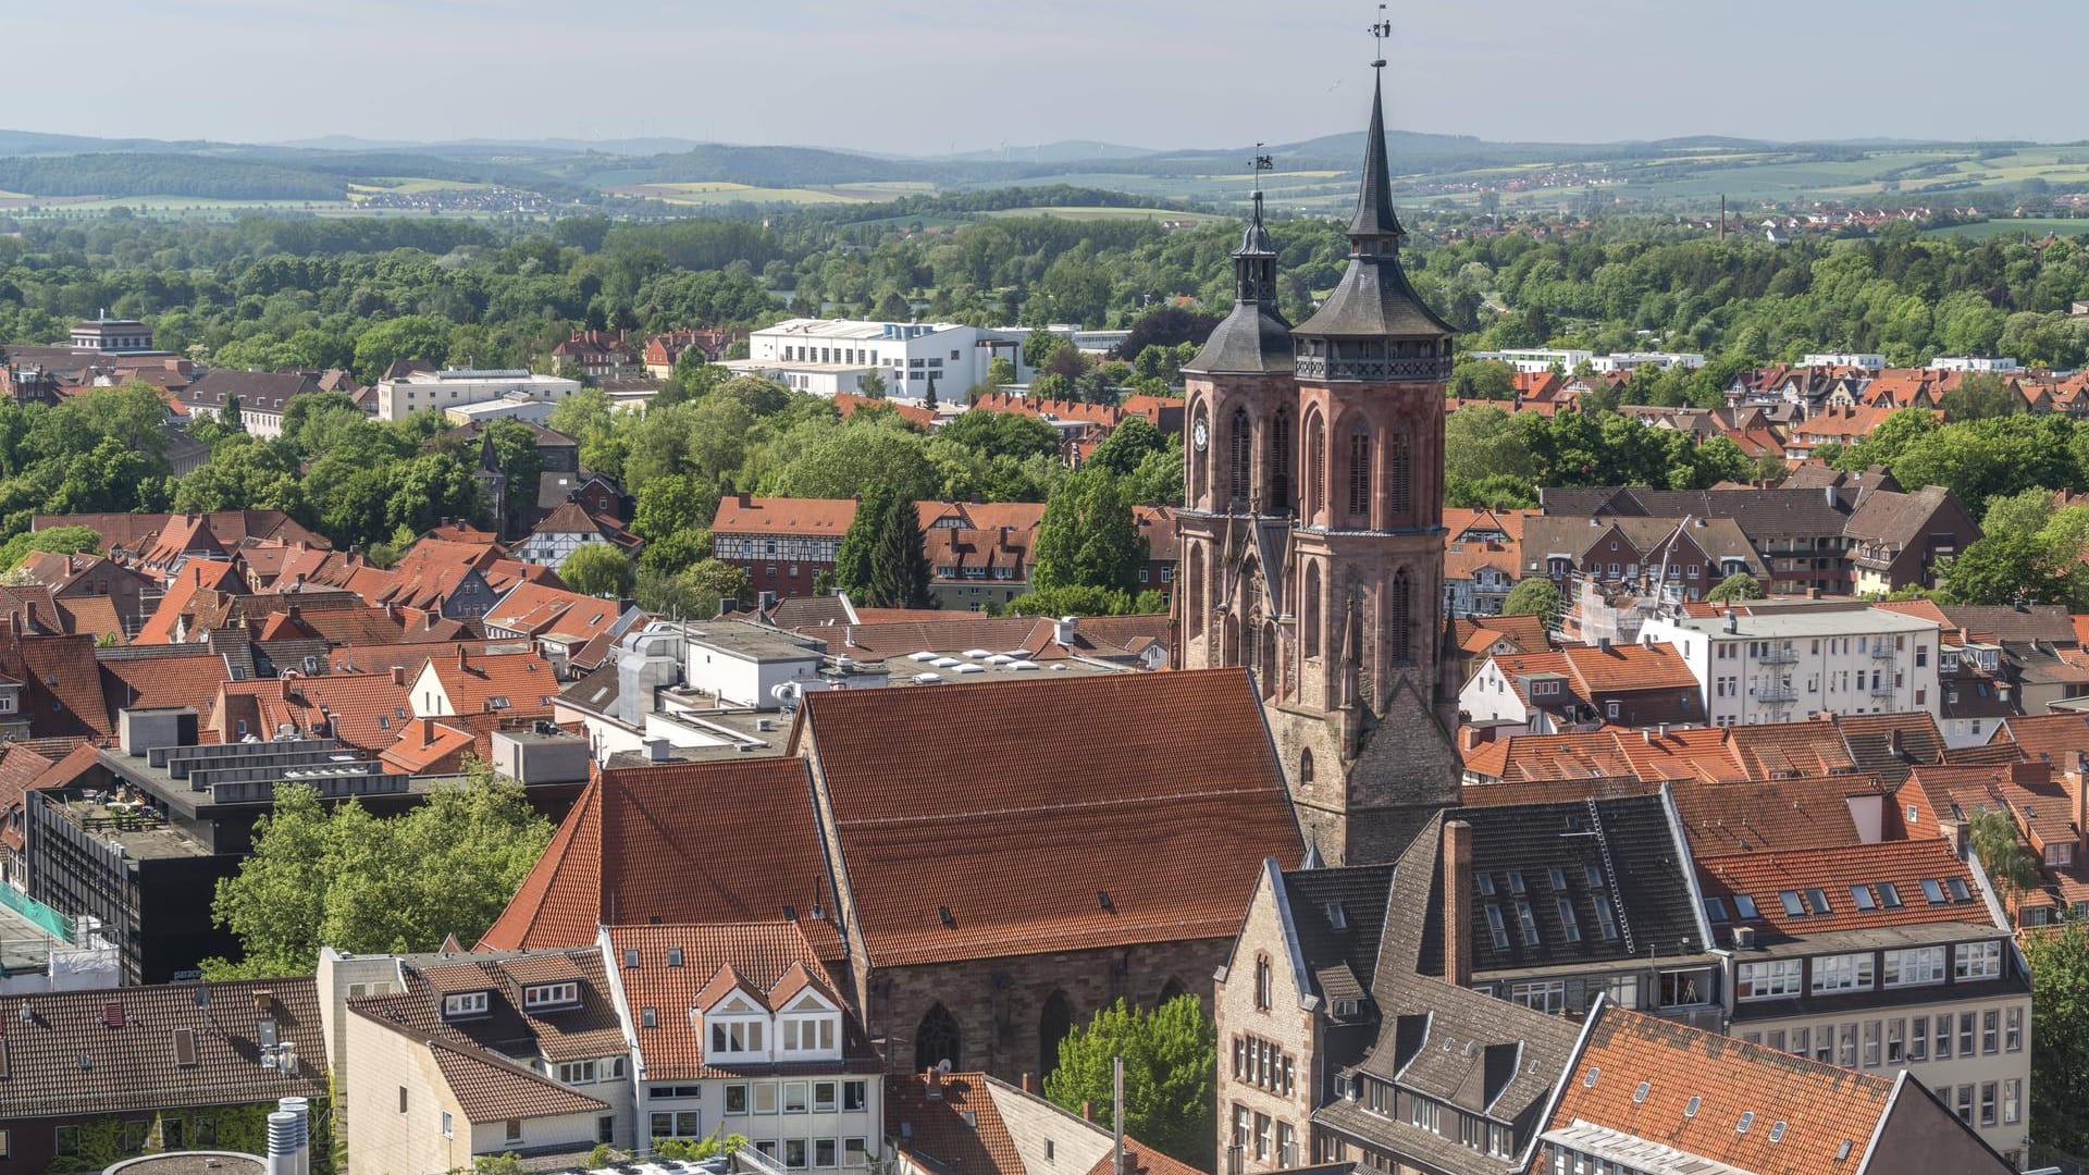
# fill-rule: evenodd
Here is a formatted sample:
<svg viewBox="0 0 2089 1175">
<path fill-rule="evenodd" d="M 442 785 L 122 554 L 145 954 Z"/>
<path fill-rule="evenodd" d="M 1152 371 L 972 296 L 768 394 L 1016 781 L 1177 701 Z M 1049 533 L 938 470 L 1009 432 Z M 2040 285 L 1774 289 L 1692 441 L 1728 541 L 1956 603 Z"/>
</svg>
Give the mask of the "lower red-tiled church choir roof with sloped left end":
<svg viewBox="0 0 2089 1175">
<path fill-rule="evenodd" d="M 480 945 L 577 947 L 595 941 L 595 926 L 785 909 L 806 920 L 819 958 L 842 958 L 802 759 L 602 767 Z M 813 909 L 827 920 L 815 924 Z"/>
</svg>

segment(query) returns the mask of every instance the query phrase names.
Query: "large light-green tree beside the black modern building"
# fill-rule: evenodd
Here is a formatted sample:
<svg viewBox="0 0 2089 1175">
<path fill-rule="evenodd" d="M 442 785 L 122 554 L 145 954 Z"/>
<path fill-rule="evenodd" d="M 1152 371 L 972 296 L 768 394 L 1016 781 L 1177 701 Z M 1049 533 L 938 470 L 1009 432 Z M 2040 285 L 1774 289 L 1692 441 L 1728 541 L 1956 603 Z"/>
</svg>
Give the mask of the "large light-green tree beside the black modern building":
<svg viewBox="0 0 2089 1175">
<path fill-rule="evenodd" d="M 305 784 L 276 788 L 238 874 L 217 882 L 211 914 L 240 939 L 242 962 L 211 976 L 311 974 L 320 947 L 432 951 L 472 943 L 499 916 L 551 840 L 522 786 L 483 765 L 399 815 L 349 799 L 326 807 Z"/>
</svg>

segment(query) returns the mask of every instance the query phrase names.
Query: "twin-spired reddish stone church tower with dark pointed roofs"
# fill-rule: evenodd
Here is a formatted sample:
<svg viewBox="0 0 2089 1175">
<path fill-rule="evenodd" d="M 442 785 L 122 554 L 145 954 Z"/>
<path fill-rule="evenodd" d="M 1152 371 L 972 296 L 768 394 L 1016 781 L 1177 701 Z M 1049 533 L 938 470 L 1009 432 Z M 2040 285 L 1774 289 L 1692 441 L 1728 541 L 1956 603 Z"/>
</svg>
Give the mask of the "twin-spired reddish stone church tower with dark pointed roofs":
<svg viewBox="0 0 2089 1175">
<path fill-rule="evenodd" d="M 1439 640 L 1454 330 L 1400 268 L 1379 92 L 1347 236 L 1341 284 L 1293 328 L 1258 192 L 1233 314 L 1182 368 L 1180 665 L 1249 667 L 1327 863 L 1389 861 L 1458 799 Z"/>
</svg>

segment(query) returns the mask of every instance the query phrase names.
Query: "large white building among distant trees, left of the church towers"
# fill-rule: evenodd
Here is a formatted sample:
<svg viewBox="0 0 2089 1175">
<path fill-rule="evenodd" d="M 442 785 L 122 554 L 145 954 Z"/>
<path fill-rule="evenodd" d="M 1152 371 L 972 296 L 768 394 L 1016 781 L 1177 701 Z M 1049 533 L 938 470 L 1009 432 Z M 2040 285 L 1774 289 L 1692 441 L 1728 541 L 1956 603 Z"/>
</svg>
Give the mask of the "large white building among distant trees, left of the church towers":
<svg viewBox="0 0 2089 1175">
<path fill-rule="evenodd" d="M 1005 358 L 1024 381 L 1028 328 L 959 326 L 955 322 L 859 322 L 792 318 L 748 337 L 748 358 L 729 360 L 735 374 L 762 374 L 813 395 L 859 393 L 877 372 L 890 399 L 919 401 L 930 381 L 936 399 L 963 404 L 986 368 Z"/>
</svg>

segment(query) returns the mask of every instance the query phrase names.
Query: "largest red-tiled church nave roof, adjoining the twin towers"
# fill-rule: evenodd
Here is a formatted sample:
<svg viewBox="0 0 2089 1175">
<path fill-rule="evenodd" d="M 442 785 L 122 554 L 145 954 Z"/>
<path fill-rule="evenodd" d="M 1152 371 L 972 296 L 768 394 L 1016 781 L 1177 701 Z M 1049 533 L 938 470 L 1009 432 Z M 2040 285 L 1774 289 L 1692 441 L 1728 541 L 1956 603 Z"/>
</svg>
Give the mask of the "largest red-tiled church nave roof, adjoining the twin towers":
<svg viewBox="0 0 2089 1175">
<path fill-rule="evenodd" d="M 1230 939 L 1301 853 L 1239 669 L 817 692 L 792 751 L 871 966 Z"/>
</svg>

